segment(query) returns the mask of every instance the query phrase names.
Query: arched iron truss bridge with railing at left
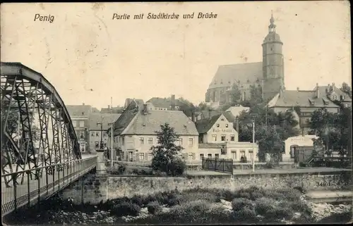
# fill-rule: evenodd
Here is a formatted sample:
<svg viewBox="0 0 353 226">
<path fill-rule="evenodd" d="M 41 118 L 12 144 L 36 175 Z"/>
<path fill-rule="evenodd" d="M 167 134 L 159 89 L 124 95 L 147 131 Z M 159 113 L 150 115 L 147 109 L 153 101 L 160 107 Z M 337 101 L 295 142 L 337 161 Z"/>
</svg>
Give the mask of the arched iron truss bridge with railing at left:
<svg viewBox="0 0 353 226">
<path fill-rule="evenodd" d="M 52 84 L 21 63 L 1 62 L 1 213 L 36 203 L 96 164 L 96 156 L 81 156 Z"/>
</svg>

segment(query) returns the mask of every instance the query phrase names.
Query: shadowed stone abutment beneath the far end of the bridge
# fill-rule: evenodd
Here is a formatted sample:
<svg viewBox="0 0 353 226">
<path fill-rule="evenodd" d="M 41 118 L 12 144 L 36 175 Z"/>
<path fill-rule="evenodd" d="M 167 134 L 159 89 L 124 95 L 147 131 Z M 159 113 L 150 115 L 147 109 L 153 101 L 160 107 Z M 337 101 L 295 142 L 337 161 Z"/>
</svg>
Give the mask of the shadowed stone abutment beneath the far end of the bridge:
<svg viewBox="0 0 353 226">
<path fill-rule="evenodd" d="M 106 201 L 108 196 L 108 177 L 96 175 L 94 171 L 80 177 L 59 193 L 62 199 L 72 198 L 73 203 L 97 204 Z"/>
</svg>

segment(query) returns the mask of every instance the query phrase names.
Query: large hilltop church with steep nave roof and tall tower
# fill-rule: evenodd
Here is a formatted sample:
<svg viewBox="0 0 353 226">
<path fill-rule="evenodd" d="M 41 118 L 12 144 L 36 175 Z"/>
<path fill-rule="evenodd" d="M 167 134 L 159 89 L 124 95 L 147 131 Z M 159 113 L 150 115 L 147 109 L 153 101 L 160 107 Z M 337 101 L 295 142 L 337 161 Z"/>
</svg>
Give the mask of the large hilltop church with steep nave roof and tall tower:
<svg viewBox="0 0 353 226">
<path fill-rule="evenodd" d="M 234 84 L 237 84 L 242 100 L 251 97 L 251 86 L 261 87 L 264 101 L 272 99 L 280 89 L 285 89 L 282 45 L 280 35 L 276 32 L 275 20 L 271 16 L 268 34 L 262 44 L 263 61 L 220 65 L 205 94 L 205 102 L 213 107 L 229 103 Z"/>
</svg>

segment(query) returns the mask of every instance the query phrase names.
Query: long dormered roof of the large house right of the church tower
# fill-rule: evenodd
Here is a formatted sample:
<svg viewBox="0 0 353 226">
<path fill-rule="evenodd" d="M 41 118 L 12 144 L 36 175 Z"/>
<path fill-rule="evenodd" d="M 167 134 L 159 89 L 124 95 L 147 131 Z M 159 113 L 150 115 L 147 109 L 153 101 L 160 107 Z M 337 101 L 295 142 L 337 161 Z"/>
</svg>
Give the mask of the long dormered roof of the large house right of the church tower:
<svg viewBox="0 0 353 226">
<path fill-rule="evenodd" d="M 272 101 L 270 101 L 272 102 Z M 319 94 L 316 98 L 316 91 L 308 90 L 284 90 L 273 98 L 270 107 L 316 107 L 316 108 L 338 108 L 333 101 L 330 101 L 325 94 Z"/>
</svg>

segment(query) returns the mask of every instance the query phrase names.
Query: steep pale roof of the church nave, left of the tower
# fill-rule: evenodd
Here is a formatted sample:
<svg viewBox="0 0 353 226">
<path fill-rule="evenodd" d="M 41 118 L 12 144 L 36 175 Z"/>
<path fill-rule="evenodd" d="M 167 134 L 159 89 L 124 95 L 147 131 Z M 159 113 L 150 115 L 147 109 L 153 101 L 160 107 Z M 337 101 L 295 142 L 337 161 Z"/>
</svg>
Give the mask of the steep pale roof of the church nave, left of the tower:
<svg viewBox="0 0 353 226">
<path fill-rule="evenodd" d="M 208 89 L 230 87 L 234 82 L 253 84 L 261 82 L 262 77 L 262 62 L 220 65 Z"/>
</svg>

